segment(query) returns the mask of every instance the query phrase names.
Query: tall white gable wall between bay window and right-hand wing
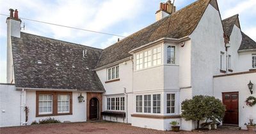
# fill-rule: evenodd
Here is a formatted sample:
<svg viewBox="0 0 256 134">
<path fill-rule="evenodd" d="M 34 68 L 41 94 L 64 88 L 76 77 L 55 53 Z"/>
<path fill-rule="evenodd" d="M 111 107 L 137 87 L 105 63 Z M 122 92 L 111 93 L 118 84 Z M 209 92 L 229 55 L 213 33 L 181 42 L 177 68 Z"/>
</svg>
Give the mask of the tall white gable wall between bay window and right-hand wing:
<svg viewBox="0 0 256 134">
<path fill-rule="evenodd" d="M 213 75 L 220 74 L 220 52 L 225 52 L 219 12 L 209 4 L 191 36 L 193 96 L 212 95 Z"/>
</svg>

